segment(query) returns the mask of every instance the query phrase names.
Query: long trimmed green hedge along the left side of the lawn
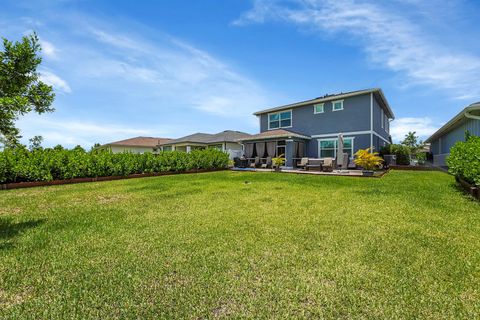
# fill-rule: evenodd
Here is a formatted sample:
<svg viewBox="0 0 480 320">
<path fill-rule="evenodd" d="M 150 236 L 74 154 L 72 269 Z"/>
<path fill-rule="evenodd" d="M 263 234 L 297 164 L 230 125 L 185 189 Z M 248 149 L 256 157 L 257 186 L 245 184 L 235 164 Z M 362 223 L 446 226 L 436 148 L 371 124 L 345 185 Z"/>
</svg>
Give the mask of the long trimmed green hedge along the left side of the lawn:
<svg viewBox="0 0 480 320">
<path fill-rule="evenodd" d="M 0 183 L 51 181 L 73 178 L 126 176 L 134 173 L 220 169 L 228 166 L 228 155 L 215 149 L 185 152 L 112 153 L 86 152 L 81 148 L 5 149 L 0 152 Z"/>
</svg>

